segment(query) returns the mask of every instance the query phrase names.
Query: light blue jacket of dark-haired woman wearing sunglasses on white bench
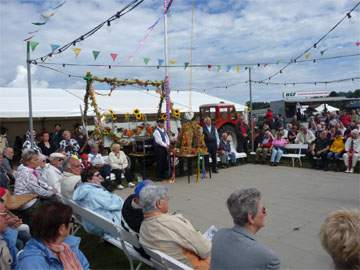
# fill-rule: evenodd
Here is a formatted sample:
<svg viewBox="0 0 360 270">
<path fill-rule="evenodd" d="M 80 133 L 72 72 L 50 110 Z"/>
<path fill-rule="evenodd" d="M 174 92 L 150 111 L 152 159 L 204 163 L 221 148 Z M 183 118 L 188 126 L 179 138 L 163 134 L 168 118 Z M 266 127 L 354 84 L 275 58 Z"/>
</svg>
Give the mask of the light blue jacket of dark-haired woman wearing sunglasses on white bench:
<svg viewBox="0 0 360 270">
<path fill-rule="evenodd" d="M 73 200 L 80 206 L 94 211 L 115 224 L 121 224 L 121 209 L 124 201 L 102 186 L 83 183 L 75 189 Z M 103 234 L 100 228 L 97 228 L 90 222 L 84 222 L 82 225 L 88 233 L 96 235 Z"/>
</svg>

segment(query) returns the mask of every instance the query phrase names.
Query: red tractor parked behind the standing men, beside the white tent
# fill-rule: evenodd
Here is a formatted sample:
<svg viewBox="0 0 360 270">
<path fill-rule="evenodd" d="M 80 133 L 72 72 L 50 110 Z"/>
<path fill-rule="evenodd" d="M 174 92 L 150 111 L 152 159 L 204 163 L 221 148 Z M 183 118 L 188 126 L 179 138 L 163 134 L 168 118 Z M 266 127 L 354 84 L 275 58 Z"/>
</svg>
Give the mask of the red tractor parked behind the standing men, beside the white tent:
<svg viewBox="0 0 360 270">
<path fill-rule="evenodd" d="M 238 113 L 235 106 L 220 102 L 217 104 L 205 104 L 200 106 L 200 124 L 204 124 L 204 119 L 210 117 L 212 123 L 215 124 L 219 136 L 226 131 L 231 135 L 232 147 L 237 148 L 237 130 L 235 128 L 239 121 Z"/>
</svg>

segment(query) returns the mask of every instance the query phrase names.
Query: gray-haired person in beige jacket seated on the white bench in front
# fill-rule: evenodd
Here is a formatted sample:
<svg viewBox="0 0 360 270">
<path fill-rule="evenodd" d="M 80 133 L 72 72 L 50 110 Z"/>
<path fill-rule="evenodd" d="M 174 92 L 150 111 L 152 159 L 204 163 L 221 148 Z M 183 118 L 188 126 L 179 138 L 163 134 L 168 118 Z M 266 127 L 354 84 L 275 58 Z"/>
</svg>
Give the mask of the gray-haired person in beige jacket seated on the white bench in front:
<svg viewBox="0 0 360 270">
<path fill-rule="evenodd" d="M 208 269 L 211 244 L 182 215 L 169 215 L 166 187 L 148 185 L 140 192 L 144 221 L 140 227 L 140 243 L 160 250 L 194 268 Z"/>
</svg>

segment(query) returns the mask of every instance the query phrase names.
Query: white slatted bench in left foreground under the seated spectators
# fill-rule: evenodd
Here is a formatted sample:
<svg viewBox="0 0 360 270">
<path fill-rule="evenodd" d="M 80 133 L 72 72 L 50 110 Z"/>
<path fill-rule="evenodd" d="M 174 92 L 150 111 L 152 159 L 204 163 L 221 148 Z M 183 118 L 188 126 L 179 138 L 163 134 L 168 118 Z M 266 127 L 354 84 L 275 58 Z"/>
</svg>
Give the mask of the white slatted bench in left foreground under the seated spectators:
<svg viewBox="0 0 360 270">
<path fill-rule="evenodd" d="M 165 253 L 144 248 L 145 253 L 150 256 L 150 260 L 144 258 L 138 253 L 135 248 L 140 248 L 141 245 L 136 235 L 131 232 L 127 232 L 119 225 L 114 224 L 110 220 L 102 217 L 101 215 L 81 207 L 73 200 L 63 199 L 64 203 L 71 206 L 73 214 L 76 219 L 83 223 L 84 221 L 91 222 L 96 227 L 101 228 L 104 231 L 104 240 L 121 249 L 130 264 L 131 270 L 139 270 L 143 264 L 146 264 L 152 268 L 159 270 L 191 270 L 189 266 L 175 260 L 174 258 L 166 255 Z M 135 248 L 134 248 L 135 247 Z M 136 268 L 134 268 L 134 261 L 139 262 Z"/>
</svg>

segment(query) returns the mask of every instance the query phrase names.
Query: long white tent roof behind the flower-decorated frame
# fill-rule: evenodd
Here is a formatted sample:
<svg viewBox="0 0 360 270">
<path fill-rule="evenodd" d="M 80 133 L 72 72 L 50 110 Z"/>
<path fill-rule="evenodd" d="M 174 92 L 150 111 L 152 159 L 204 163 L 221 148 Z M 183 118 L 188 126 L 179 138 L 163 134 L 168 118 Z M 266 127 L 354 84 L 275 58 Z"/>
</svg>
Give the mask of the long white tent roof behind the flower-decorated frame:
<svg viewBox="0 0 360 270">
<path fill-rule="evenodd" d="M 100 90 L 101 91 L 101 90 Z M 100 92 L 99 91 L 99 92 Z M 102 91 L 104 94 L 108 91 Z M 85 90 L 83 89 L 50 89 L 33 88 L 33 117 L 76 117 L 80 116 L 80 105 L 83 106 Z M 132 112 L 135 108 L 142 113 L 156 113 L 159 104 L 159 94 L 154 91 L 115 90 L 112 95 L 97 95 L 97 103 L 101 110 L 112 109 L 117 114 Z M 0 87 L 0 118 L 27 118 L 29 115 L 27 88 Z M 171 92 L 174 107 L 181 112 L 189 111 L 189 91 Z M 246 106 L 225 99 L 210 96 L 200 92 L 192 92 L 192 110 L 199 111 L 199 106 L 206 103 L 234 104 L 238 111 L 244 111 Z M 163 104 L 165 111 L 165 102 Z M 89 110 L 89 114 L 93 114 Z"/>
</svg>

